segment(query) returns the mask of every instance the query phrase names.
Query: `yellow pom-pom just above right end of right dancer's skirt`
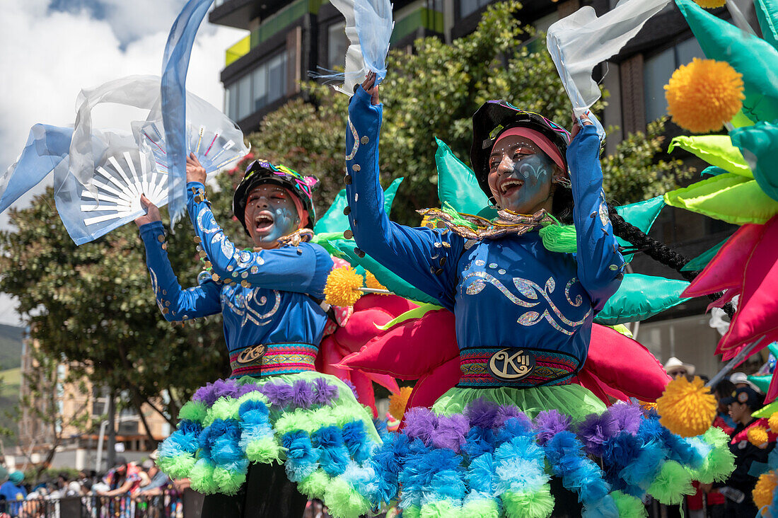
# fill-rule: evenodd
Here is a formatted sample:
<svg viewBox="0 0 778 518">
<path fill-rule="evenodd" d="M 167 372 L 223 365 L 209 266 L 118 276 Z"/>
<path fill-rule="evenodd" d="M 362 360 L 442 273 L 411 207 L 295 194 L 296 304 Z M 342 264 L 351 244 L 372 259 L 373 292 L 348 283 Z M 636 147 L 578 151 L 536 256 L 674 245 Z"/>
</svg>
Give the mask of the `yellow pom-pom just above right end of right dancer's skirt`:
<svg viewBox="0 0 778 518">
<path fill-rule="evenodd" d="M 702 379 L 677 378 L 668 383 L 657 400 L 659 422 L 682 437 L 702 435 L 716 418 L 716 398 Z"/>
</svg>

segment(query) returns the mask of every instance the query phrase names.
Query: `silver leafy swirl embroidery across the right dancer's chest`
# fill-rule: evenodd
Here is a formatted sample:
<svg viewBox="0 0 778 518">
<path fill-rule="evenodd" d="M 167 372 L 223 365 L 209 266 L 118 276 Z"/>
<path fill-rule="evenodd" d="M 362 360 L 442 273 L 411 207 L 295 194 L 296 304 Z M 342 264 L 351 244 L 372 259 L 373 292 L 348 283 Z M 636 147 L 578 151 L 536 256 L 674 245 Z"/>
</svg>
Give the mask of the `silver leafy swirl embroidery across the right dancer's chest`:
<svg viewBox="0 0 778 518">
<path fill-rule="evenodd" d="M 522 300 L 521 298 L 518 298 L 513 292 L 511 292 L 503 283 L 501 283 L 499 280 L 497 280 L 495 277 L 492 277 L 489 273 L 486 272 L 473 272 L 468 273 L 467 276 L 464 277 L 462 282 L 466 282 L 471 277 L 478 277 L 477 279 L 473 280 L 472 284 L 470 284 L 465 290 L 465 292 L 468 295 L 475 295 L 480 293 L 485 287 L 486 284 L 491 284 L 492 286 L 496 287 L 500 293 L 506 296 L 508 300 L 513 302 L 513 304 L 521 306 L 523 308 L 535 308 L 539 304 L 541 304 L 542 300 L 538 298 L 538 294 L 542 296 L 542 299 L 545 299 L 546 303 L 548 303 L 548 307 L 551 308 L 552 312 L 554 312 L 554 315 L 556 316 L 556 319 L 559 319 L 561 324 L 564 324 L 567 327 L 573 328 L 573 329 L 565 329 L 560 325 L 560 322 L 557 322 L 554 316 L 552 316 L 551 313 L 548 312 L 548 309 L 544 309 L 542 313 L 539 312 L 524 312 L 520 317 L 517 319 L 516 322 L 520 323 L 522 326 L 534 326 L 538 322 L 542 322 L 543 320 L 547 321 L 551 326 L 558 330 L 561 333 L 565 333 L 566 335 L 572 335 L 575 333 L 576 328 L 579 326 L 582 326 L 584 322 L 586 322 L 586 319 L 591 315 L 591 308 L 589 308 L 589 311 L 587 311 L 586 315 L 584 315 L 583 319 L 580 320 L 570 320 L 565 315 L 562 314 L 561 311 L 559 311 L 559 308 L 556 307 L 556 305 L 553 303 L 551 298 L 549 297 L 549 294 L 552 294 L 554 290 L 556 289 L 556 283 L 553 277 L 548 277 L 548 280 L 545 281 L 545 288 L 541 288 L 538 286 L 538 284 L 535 284 L 533 281 L 528 279 L 522 279 L 521 277 L 513 277 L 513 284 L 516 286 L 519 293 L 524 297 L 529 299 L 529 301 Z M 569 287 L 571 287 L 573 283 L 568 283 L 565 287 L 565 298 L 574 306 L 577 307 L 578 305 L 575 305 L 570 301 L 569 298 Z M 576 302 L 579 301 L 580 295 L 576 297 Z M 583 303 L 583 298 L 580 298 L 580 303 Z"/>
</svg>

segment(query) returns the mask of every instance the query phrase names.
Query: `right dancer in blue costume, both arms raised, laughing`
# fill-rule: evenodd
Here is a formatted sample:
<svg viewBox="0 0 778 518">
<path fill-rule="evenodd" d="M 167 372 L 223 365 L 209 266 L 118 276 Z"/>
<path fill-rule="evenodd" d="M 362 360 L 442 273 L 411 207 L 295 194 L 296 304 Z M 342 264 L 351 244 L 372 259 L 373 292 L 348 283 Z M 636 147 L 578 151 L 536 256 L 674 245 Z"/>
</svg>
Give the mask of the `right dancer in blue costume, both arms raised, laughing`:
<svg viewBox="0 0 778 518">
<path fill-rule="evenodd" d="M 591 122 L 583 118 L 571 142 L 541 115 L 489 101 L 473 118 L 471 161 L 499 217 L 422 210 L 443 228 L 410 228 L 381 210 L 381 118 L 370 74 L 346 132 L 356 253 L 454 312 L 461 361 L 457 386 L 432 411 L 408 411 L 403 431 L 377 451 L 382 498 L 399 496 L 403 516 L 580 516 L 581 506 L 584 516 L 643 516 L 647 492 L 678 503 L 693 492 L 692 477 L 725 476 L 726 438 L 682 439 L 655 413 L 625 403 L 606 410 L 571 383 L 594 313 L 625 267 Z M 565 252 L 539 231 L 559 220 L 574 224 Z"/>
</svg>

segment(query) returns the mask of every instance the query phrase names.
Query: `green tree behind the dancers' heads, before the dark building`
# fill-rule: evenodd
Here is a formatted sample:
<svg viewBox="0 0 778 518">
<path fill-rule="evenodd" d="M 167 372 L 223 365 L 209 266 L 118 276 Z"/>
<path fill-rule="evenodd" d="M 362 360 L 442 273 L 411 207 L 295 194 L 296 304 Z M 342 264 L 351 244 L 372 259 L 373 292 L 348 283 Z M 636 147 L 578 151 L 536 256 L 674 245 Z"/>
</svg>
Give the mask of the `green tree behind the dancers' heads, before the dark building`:
<svg viewBox="0 0 778 518">
<path fill-rule="evenodd" d="M 384 124 L 381 175 L 384 185 L 405 177 L 394 203 L 394 219 L 417 224 L 416 209 L 436 206 L 434 136 L 469 164 L 471 117 L 490 99 L 506 99 L 562 124 L 570 121 L 569 100 L 548 52 L 545 37 L 517 19 L 515 1 L 492 5 L 478 29 L 452 44 L 436 37 L 415 41 L 414 53 L 393 50 L 381 84 Z M 342 189 L 348 98 L 328 86 L 306 83 L 308 100 L 294 100 L 268 115 L 251 134 L 254 153 L 322 181 L 317 205 L 328 206 Z M 603 103 L 594 106 L 601 111 Z M 605 189 L 621 203 L 672 189 L 689 174 L 679 160 L 655 163 L 664 122 L 647 134 L 630 135 L 613 156 L 604 157 Z"/>
</svg>

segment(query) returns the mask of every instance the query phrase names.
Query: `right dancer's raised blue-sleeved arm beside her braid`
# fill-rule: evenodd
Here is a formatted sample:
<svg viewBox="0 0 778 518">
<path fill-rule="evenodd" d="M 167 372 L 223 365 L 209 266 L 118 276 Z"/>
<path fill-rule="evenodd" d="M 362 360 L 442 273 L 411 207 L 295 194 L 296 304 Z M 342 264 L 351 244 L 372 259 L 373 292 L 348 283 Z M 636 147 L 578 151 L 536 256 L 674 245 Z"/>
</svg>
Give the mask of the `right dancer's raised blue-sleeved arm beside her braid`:
<svg viewBox="0 0 778 518">
<path fill-rule="evenodd" d="M 576 225 L 578 279 L 599 311 L 619 289 L 624 258 L 613 234 L 602 190 L 600 139 L 594 125 L 586 125 L 567 148 L 573 183 L 573 221 Z"/>
</svg>

